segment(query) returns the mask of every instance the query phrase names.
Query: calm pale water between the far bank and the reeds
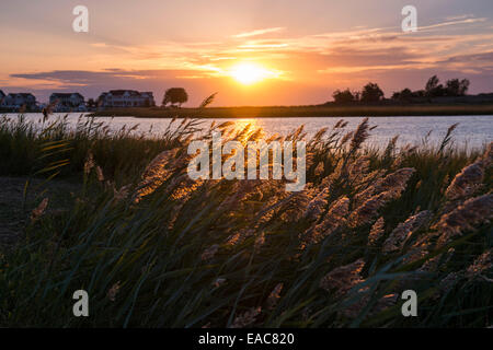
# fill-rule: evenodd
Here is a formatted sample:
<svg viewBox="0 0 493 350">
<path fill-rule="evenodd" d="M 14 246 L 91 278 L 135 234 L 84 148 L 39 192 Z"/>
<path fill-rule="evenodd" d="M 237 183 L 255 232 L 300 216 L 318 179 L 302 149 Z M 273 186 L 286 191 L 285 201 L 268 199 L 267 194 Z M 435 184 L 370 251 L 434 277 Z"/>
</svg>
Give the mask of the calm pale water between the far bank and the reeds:
<svg viewBox="0 0 493 350">
<path fill-rule="evenodd" d="M 60 118 L 66 114 L 54 114 L 50 119 Z M 69 114 L 67 121 L 70 126 L 74 126 L 80 117 L 78 114 Z M 8 117 L 15 119 L 16 114 L 10 114 Z M 42 118 L 42 114 L 27 114 L 26 119 L 37 121 Z M 133 127 L 138 125 L 136 132 L 149 132 L 151 126 L 151 133 L 158 136 L 168 127 L 171 119 L 156 119 L 156 118 L 134 118 L 134 117 L 116 117 L 116 118 L 95 118 L 98 121 L 103 121 L 110 126 L 111 130 L 118 130 L 124 125 Z M 262 127 L 267 135 L 280 133 L 286 135 L 289 131 L 305 125 L 305 130 L 308 136 L 313 135 L 323 127 L 332 127 L 340 117 L 317 117 L 317 118 L 260 118 L 260 119 L 216 119 L 216 122 L 223 122 L 232 120 L 239 126 L 252 124 L 255 127 Z M 343 117 L 348 121 L 346 129 L 354 129 L 360 121 L 362 117 Z M 208 128 L 214 119 L 204 119 L 204 128 Z M 180 120 L 179 120 L 180 122 Z M 179 124 L 175 122 L 175 124 Z M 485 143 L 493 141 L 493 116 L 452 116 L 452 117 L 374 117 L 370 118 L 370 125 L 377 126 L 371 131 L 371 137 L 367 143 L 382 147 L 386 145 L 389 139 L 399 135 L 399 144 L 412 143 L 419 144 L 423 138 L 432 130 L 428 138 L 431 143 L 439 142 L 450 125 L 459 122 L 455 130 L 454 140 L 456 144 L 467 147 L 469 150 L 482 147 Z"/>
</svg>

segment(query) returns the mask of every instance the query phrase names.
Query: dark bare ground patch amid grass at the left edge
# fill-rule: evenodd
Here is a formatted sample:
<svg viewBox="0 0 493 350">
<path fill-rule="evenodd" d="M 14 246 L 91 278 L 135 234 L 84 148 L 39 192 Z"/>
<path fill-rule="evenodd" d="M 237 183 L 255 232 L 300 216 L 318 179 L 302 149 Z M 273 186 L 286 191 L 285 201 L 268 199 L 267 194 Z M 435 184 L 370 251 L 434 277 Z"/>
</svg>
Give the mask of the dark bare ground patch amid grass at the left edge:
<svg viewBox="0 0 493 350">
<path fill-rule="evenodd" d="M 27 177 L 0 177 L 0 247 L 16 242 L 30 218 L 31 211 L 43 198 L 48 197 L 48 210 L 67 207 L 70 192 L 78 185 L 66 180 L 51 180 L 43 185 L 42 179 L 31 182 L 24 208 L 24 186 Z"/>
</svg>

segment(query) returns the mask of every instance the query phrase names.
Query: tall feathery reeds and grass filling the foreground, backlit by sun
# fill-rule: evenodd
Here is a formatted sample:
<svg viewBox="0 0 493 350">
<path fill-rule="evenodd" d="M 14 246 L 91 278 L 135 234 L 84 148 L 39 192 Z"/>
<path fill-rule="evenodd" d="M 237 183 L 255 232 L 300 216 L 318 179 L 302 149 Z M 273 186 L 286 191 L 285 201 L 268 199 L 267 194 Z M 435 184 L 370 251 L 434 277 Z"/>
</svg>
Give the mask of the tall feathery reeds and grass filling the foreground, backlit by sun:
<svg viewBox="0 0 493 350">
<path fill-rule="evenodd" d="M 1 121 L 2 174 L 78 176 L 81 188 L 65 211 L 39 198 L 25 213 L 0 258 L 0 326 L 491 325 L 491 145 L 454 148 L 451 127 L 438 147 L 379 151 L 364 145 L 367 120 L 351 132 L 340 121 L 309 141 L 306 189 L 286 192 L 283 180 L 192 180 L 199 121 L 173 122 L 145 139 L 92 121 L 43 132 Z M 72 314 L 81 289 L 89 317 Z M 417 317 L 401 314 L 409 289 Z"/>
</svg>

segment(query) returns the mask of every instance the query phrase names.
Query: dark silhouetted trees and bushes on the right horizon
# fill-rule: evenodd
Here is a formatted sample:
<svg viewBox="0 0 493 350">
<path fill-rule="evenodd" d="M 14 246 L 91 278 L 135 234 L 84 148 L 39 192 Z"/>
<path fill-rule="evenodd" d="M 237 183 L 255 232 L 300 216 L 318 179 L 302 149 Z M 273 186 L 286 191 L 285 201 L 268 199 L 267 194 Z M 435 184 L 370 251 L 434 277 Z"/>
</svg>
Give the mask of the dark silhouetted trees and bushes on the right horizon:
<svg viewBox="0 0 493 350">
<path fill-rule="evenodd" d="M 440 84 L 437 75 L 433 75 L 428 79 L 423 90 L 411 91 L 406 88 L 394 92 L 390 100 L 400 103 L 411 103 L 414 101 L 431 101 L 434 97 L 465 96 L 469 85 L 470 81 L 468 79 L 450 79 L 444 85 Z M 363 86 L 362 91 L 336 90 L 332 97 L 335 104 L 378 104 L 385 100 L 385 94 L 377 83 L 369 82 Z"/>
</svg>

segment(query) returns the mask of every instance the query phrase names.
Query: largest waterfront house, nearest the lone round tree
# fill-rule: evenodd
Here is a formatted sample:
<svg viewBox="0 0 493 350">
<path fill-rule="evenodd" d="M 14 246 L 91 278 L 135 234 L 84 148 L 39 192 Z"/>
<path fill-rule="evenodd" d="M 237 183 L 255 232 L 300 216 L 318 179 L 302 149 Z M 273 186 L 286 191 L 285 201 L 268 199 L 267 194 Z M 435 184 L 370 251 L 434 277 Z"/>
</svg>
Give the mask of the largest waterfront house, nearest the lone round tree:
<svg viewBox="0 0 493 350">
<path fill-rule="evenodd" d="M 99 97 L 99 106 L 103 108 L 150 107 L 154 106 L 152 92 L 135 90 L 111 90 Z"/>
</svg>

